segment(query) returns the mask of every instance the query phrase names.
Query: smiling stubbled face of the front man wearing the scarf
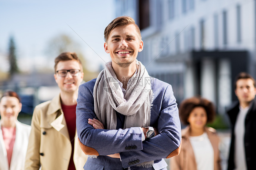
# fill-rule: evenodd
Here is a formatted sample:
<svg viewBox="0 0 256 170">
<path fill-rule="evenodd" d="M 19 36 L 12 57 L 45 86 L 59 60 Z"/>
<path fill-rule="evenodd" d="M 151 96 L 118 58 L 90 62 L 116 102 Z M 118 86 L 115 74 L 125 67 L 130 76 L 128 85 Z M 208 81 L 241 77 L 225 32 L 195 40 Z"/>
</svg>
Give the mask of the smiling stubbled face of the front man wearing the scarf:
<svg viewBox="0 0 256 170">
<path fill-rule="evenodd" d="M 112 66 L 126 68 L 143 50 L 143 41 L 139 40 L 135 25 L 117 26 L 110 32 L 104 48 L 110 54 Z"/>
</svg>

